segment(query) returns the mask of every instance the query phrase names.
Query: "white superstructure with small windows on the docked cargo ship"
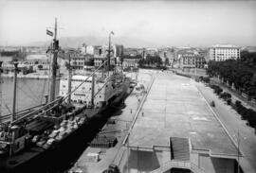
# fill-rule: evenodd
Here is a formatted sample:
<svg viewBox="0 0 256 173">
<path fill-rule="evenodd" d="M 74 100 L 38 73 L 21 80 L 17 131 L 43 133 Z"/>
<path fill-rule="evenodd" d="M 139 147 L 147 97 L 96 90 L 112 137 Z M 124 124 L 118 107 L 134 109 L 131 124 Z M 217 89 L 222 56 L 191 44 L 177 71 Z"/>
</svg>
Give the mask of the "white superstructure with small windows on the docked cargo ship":
<svg viewBox="0 0 256 173">
<path fill-rule="evenodd" d="M 71 79 L 71 89 L 79 86 L 87 76 L 75 75 Z M 74 104 L 83 104 L 87 107 L 96 108 L 108 105 L 113 97 L 119 95 L 119 81 L 123 78 L 121 75 L 114 75 L 108 78 L 101 78 L 101 75 L 95 75 L 88 78 L 82 85 L 71 95 L 71 102 Z M 60 93 L 61 96 L 68 94 L 68 78 L 61 78 Z M 92 103 L 92 97 L 94 102 Z"/>
</svg>

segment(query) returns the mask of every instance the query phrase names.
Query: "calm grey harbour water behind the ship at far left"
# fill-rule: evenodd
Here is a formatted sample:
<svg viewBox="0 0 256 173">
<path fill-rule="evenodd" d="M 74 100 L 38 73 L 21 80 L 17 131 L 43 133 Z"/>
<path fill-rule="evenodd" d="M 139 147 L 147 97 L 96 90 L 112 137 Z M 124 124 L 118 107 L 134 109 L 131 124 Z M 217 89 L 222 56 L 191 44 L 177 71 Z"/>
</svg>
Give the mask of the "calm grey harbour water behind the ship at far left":
<svg viewBox="0 0 256 173">
<path fill-rule="evenodd" d="M 12 110 L 13 78 L 2 78 L 2 114 L 9 114 Z M 47 79 L 17 79 L 17 103 L 16 111 L 23 110 L 45 102 L 48 93 Z M 56 93 L 59 93 L 59 81 L 57 81 Z"/>
</svg>

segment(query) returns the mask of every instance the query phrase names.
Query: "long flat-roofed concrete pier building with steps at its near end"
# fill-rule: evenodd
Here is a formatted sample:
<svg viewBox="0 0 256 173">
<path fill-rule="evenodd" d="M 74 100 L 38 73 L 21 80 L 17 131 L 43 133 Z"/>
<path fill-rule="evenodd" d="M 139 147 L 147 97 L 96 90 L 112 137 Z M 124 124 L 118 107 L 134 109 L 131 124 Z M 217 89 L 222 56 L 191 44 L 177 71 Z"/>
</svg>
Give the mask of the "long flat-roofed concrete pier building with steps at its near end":
<svg viewBox="0 0 256 173">
<path fill-rule="evenodd" d="M 238 154 L 194 81 L 172 72 L 155 75 L 125 146 L 122 172 L 234 172 Z"/>
</svg>

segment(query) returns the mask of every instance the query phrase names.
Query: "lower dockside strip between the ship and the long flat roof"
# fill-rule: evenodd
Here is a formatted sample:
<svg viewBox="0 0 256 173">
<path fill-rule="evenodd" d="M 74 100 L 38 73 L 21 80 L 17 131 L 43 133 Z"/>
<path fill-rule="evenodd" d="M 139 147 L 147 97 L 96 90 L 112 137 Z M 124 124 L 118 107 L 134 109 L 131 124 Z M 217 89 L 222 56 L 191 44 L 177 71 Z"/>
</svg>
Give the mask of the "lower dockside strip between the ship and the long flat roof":
<svg viewBox="0 0 256 173">
<path fill-rule="evenodd" d="M 140 73 L 137 76 L 138 85 L 143 85 L 145 91 L 149 91 L 155 73 L 155 71 L 140 70 Z M 126 76 L 136 79 L 135 74 L 127 74 Z M 70 169 L 71 171 L 82 170 L 83 172 L 102 172 L 109 164 L 121 164 L 121 161 L 126 157 L 126 149 L 123 147 L 122 143 L 134 118 L 139 112 L 139 107 L 143 104 L 142 100 L 146 97 L 146 94 L 147 93 L 134 90 L 124 101 L 123 108 L 112 115 L 111 120 L 114 120 L 115 124 L 107 123 L 99 132 L 100 135 L 103 134 L 105 136 L 117 137 L 117 145 L 107 149 L 101 147 L 87 147 L 76 164 Z M 99 153 L 100 162 L 89 162 L 87 158 L 89 153 Z"/>
</svg>

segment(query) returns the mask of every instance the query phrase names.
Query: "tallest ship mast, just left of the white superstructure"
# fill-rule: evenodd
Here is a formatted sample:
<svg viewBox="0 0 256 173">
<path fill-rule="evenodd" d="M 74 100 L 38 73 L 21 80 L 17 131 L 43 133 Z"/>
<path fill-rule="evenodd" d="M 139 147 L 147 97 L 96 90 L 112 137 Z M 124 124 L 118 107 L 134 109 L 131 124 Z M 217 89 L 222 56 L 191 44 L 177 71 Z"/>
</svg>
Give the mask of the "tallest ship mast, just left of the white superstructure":
<svg viewBox="0 0 256 173">
<path fill-rule="evenodd" d="M 52 60 L 52 68 L 51 68 L 50 102 L 53 101 L 55 98 L 58 49 L 59 49 L 59 41 L 57 40 L 57 18 L 55 18 L 54 39 L 53 39 L 53 60 Z"/>
</svg>

